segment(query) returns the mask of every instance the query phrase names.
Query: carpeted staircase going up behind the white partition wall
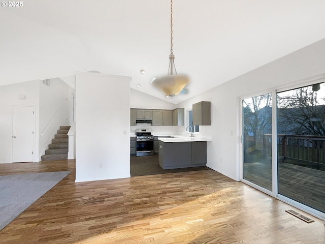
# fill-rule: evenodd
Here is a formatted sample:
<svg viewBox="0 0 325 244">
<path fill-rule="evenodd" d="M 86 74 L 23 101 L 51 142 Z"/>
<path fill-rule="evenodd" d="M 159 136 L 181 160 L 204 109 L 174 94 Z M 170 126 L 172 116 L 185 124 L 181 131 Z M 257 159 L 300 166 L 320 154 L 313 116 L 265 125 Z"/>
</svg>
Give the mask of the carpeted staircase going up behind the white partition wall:
<svg viewBox="0 0 325 244">
<path fill-rule="evenodd" d="M 60 126 L 57 134 L 49 144 L 49 149 L 45 150 L 42 161 L 68 159 L 69 132 L 70 126 Z"/>
</svg>

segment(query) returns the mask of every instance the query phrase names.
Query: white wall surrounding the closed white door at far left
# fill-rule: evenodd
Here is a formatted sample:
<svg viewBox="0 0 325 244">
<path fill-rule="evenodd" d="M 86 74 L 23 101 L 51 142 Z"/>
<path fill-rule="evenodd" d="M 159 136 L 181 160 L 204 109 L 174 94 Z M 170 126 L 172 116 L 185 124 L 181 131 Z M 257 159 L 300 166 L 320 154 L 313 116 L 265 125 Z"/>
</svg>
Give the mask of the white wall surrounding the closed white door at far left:
<svg viewBox="0 0 325 244">
<path fill-rule="evenodd" d="M 19 95 L 26 99 L 19 99 Z M 38 143 L 39 80 L 0 86 L 0 104 L 0 163 L 12 163 L 13 106 L 36 108 L 35 144 Z M 34 155 L 38 155 L 37 150 Z"/>
</svg>

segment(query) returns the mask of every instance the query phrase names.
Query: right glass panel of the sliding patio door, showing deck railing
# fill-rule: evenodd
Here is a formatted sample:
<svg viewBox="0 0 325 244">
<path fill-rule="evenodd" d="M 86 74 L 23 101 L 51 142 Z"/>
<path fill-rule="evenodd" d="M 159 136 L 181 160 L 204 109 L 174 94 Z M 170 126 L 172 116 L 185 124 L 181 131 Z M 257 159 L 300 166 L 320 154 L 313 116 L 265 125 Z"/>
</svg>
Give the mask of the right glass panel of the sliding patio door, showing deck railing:
<svg viewBox="0 0 325 244">
<path fill-rule="evenodd" d="M 277 93 L 278 194 L 325 212 L 325 87 Z"/>
</svg>

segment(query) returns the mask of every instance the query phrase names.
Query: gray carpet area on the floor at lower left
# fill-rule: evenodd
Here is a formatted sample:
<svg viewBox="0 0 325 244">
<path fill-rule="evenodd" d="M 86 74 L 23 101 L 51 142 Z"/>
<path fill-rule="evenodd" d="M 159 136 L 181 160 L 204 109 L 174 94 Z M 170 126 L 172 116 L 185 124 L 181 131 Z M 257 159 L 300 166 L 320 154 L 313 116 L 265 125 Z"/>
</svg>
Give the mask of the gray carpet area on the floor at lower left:
<svg viewBox="0 0 325 244">
<path fill-rule="evenodd" d="M 0 230 L 71 171 L 0 176 Z"/>
</svg>

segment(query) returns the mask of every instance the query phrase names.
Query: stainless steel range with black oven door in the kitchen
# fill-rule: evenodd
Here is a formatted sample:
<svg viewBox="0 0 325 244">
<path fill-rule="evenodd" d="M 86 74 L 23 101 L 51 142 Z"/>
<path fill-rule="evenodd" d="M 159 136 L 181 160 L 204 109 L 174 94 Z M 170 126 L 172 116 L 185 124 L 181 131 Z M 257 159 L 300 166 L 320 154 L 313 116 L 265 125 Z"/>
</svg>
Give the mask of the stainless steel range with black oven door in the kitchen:
<svg viewBox="0 0 325 244">
<path fill-rule="evenodd" d="M 137 156 L 153 155 L 153 135 L 150 129 L 136 129 Z"/>
</svg>

